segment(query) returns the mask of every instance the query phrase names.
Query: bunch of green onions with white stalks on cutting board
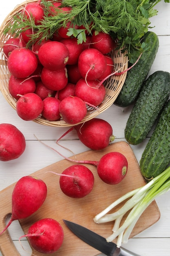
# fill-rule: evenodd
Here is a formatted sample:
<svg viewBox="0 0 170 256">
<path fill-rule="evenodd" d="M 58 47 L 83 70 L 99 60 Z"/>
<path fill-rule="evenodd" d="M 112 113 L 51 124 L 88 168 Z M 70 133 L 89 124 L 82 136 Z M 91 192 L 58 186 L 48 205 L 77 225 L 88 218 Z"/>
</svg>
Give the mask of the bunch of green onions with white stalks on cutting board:
<svg viewBox="0 0 170 256">
<path fill-rule="evenodd" d="M 153 178 L 145 186 L 132 190 L 121 198 L 110 204 L 101 213 L 94 218 L 95 223 L 104 223 L 115 220 L 111 234 L 106 240 L 108 242 L 117 238 L 117 247 L 122 243 L 127 243 L 129 236 L 134 228 L 137 220 L 140 218 L 144 210 L 155 200 L 158 195 L 166 193 L 170 189 L 170 166 L 161 174 Z M 128 199 L 130 198 L 130 199 Z M 114 213 L 108 213 L 115 206 L 128 199 L 125 204 Z M 123 216 L 130 210 L 128 216 L 120 226 Z"/>
</svg>

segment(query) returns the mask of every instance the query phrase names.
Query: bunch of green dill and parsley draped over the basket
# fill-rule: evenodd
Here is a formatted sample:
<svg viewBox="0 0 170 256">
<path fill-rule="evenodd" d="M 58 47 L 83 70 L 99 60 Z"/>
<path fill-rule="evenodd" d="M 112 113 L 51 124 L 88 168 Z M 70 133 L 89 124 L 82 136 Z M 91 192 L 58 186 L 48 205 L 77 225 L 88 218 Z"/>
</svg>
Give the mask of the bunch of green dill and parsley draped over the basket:
<svg viewBox="0 0 170 256">
<path fill-rule="evenodd" d="M 71 7 L 70 12 L 61 12 L 56 9 L 55 15 L 49 15 L 53 2 L 42 0 L 44 20 L 40 25 L 35 25 L 33 20 L 23 19 L 23 14 L 17 13 L 10 30 L 18 36 L 21 29 L 32 28 L 33 34 L 30 42 L 50 39 L 53 33 L 61 26 L 71 21 L 73 28 L 68 31 L 69 36 L 77 37 L 78 43 L 86 41 L 85 29 L 92 33 L 103 31 L 118 39 L 118 49 L 127 50 L 130 63 L 134 63 L 147 45 L 141 44 L 142 36 L 150 28 L 150 18 L 157 15 L 155 5 L 161 0 L 62 0 L 62 7 Z M 170 2 L 170 0 L 164 0 Z M 84 29 L 75 29 L 75 25 L 83 25 Z M 16 32 L 17 31 L 17 32 Z"/>
</svg>

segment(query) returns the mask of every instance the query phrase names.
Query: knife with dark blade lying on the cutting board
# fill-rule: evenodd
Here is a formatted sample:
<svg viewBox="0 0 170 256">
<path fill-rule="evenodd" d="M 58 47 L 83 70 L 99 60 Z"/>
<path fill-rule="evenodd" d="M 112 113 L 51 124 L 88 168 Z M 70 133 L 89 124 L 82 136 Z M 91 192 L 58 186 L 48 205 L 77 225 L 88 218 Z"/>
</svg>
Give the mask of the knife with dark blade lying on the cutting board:
<svg viewBox="0 0 170 256">
<path fill-rule="evenodd" d="M 96 234 L 95 232 L 78 225 L 74 222 L 63 220 L 66 226 L 80 239 L 82 239 L 88 245 L 97 249 L 99 252 L 104 253 L 107 256 L 140 256 L 133 252 L 130 252 L 122 247 L 118 248 L 113 242 L 107 242 L 106 238 Z"/>
</svg>

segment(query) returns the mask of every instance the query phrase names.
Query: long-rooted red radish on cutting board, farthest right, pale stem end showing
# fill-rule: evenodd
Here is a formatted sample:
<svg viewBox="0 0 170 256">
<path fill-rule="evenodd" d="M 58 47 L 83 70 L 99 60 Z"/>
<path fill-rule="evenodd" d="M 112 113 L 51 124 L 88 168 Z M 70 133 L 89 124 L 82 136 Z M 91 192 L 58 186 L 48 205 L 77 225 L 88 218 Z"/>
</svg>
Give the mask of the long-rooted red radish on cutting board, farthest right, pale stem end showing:
<svg viewBox="0 0 170 256">
<path fill-rule="evenodd" d="M 42 144 L 46 145 L 42 141 Z M 46 145 L 47 146 L 47 145 Z M 50 146 L 48 146 L 51 148 Z M 97 173 L 101 180 L 107 184 L 114 185 L 121 182 L 126 176 L 128 170 L 128 161 L 126 157 L 119 152 L 110 152 L 101 157 L 99 161 L 91 161 L 91 160 L 75 160 L 68 157 L 65 157 L 60 152 L 51 148 L 59 155 L 67 159 L 68 161 L 78 163 L 78 164 L 92 164 L 97 167 Z"/>
</svg>

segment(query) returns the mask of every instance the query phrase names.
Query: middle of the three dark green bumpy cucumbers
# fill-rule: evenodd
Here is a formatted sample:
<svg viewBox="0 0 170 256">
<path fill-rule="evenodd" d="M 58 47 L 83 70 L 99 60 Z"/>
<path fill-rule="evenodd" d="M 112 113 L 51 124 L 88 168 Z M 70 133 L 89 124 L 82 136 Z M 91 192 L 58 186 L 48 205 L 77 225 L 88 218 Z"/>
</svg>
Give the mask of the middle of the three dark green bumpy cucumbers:
<svg viewBox="0 0 170 256">
<path fill-rule="evenodd" d="M 141 143 L 151 130 L 170 95 L 170 73 L 156 71 L 144 82 L 125 127 L 128 143 Z"/>
</svg>

